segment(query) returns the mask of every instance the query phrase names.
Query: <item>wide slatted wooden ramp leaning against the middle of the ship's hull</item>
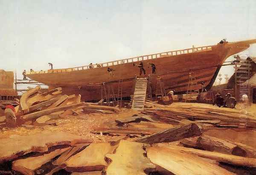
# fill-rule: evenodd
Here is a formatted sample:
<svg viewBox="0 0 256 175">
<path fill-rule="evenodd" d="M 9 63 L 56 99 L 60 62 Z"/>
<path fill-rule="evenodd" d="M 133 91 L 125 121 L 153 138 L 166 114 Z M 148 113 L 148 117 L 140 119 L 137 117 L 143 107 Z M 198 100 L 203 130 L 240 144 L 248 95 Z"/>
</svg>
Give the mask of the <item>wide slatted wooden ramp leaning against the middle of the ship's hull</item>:
<svg viewBox="0 0 256 175">
<path fill-rule="evenodd" d="M 147 78 L 137 78 L 134 88 L 131 109 L 143 110 L 147 93 Z"/>
</svg>

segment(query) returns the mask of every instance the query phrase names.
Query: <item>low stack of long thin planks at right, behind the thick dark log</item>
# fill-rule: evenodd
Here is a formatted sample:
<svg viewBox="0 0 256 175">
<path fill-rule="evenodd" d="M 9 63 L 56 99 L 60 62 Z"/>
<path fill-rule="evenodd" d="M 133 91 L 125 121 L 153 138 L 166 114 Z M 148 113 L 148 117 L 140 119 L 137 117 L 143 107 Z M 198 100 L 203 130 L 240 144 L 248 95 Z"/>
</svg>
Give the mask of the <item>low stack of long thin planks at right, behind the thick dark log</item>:
<svg viewBox="0 0 256 175">
<path fill-rule="evenodd" d="M 236 109 L 218 108 L 202 103 L 173 103 L 169 106 L 152 103 L 152 105 L 153 108 L 147 108 L 144 112 L 169 123 L 195 121 L 212 124 L 215 127 L 256 128 L 253 114 L 241 114 Z"/>
</svg>

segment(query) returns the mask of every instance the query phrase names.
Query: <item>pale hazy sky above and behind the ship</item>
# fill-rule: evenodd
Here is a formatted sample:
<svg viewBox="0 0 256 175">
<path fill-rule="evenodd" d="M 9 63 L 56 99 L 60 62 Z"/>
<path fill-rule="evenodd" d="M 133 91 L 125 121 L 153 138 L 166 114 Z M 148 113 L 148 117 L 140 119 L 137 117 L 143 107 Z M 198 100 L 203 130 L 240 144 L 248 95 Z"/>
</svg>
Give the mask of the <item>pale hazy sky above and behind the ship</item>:
<svg viewBox="0 0 256 175">
<path fill-rule="evenodd" d="M 0 69 L 17 78 L 48 62 L 85 66 L 223 38 L 256 39 L 256 0 L 0 0 Z"/>
</svg>

